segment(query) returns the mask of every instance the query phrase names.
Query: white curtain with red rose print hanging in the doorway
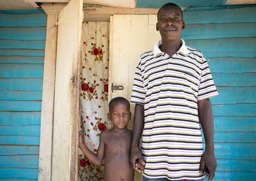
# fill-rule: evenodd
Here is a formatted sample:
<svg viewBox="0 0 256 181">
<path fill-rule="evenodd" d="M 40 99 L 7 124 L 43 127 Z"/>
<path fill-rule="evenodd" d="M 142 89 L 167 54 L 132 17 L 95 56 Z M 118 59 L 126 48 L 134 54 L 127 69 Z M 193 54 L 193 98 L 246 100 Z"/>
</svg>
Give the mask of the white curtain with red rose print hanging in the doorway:
<svg viewBox="0 0 256 181">
<path fill-rule="evenodd" d="M 107 129 L 109 22 L 82 24 L 80 103 L 86 145 L 97 152 L 99 135 Z M 80 150 L 79 178 L 103 179 L 103 166 L 91 163 Z"/>
</svg>

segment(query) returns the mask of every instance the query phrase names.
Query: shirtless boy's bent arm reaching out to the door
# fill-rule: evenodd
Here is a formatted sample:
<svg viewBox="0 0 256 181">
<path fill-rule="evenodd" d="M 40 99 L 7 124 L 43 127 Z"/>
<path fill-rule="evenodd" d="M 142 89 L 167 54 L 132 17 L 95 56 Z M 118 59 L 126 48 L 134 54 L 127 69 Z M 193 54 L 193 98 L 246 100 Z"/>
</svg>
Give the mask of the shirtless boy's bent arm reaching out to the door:
<svg viewBox="0 0 256 181">
<path fill-rule="evenodd" d="M 99 146 L 97 150 L 97 154 L 93 153 L 82 141 L 80 141 L 80 137 L 83 137 L 82 133 L 79 132 L 79 147 L 86 155 L 86 157 L 96 165 L 100 165 L 104 159 L 105 152 L 105 143 L 104 143 L 104 133 L 102 132 L 99 137 Z"/>
</svg>

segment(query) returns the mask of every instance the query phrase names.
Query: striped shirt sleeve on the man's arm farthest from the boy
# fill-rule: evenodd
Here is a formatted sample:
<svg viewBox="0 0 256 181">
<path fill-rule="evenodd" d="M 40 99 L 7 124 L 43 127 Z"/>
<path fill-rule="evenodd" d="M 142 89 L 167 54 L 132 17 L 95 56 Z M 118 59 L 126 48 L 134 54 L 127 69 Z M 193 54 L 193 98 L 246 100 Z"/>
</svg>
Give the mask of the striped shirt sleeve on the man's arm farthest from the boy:
<svg viewBox="0 0 256 181">
<path fill-rule="evenodd" d="M 202 72 L 198 88 L 197 100 L 207 99 L 217 96 L 218 94 L 219 93 L 215 86 L 214 80 L 212 79 L 208 63 L 206 61 L 206 58 L 203 56 Z"/>
</svg>

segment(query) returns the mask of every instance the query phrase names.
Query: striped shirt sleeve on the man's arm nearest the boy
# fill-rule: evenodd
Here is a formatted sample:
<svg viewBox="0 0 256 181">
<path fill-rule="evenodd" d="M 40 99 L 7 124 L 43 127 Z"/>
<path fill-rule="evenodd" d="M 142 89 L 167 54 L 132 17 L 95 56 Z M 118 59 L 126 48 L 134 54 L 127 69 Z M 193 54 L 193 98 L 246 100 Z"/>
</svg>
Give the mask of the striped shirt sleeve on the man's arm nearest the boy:
<svg viewBox="0 0 256 181">
<path fill-rule="evenodd" d="M 143 104 L 145 103 L 146 91 L 144 88 L 143 77 L 141 76 L 140 59 L 135 70 L 133 80 L 133 90 L 131 96 L 131 103 Z"/>
</svg>

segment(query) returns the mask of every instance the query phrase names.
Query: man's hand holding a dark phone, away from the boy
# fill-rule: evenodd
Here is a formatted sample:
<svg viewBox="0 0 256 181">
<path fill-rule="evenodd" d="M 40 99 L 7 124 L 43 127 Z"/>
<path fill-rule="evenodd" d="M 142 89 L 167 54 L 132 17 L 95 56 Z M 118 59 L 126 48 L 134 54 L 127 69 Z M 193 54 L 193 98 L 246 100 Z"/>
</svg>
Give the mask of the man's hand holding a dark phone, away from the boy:
<svg viewBox="0 0 256 181">
<path fill-rule="evenodd" d="M 200 173 L 203 174 L 203 170 L 205 165 L 207 165 L 209 169 L 210 176 L 208 180 L 211 180 L 215 176 L 215 171 L 217 167 L 217 162 L 214 153 L 207 152 L 202 155 L 201 163 L 200 163 Z"/>
</svg>

